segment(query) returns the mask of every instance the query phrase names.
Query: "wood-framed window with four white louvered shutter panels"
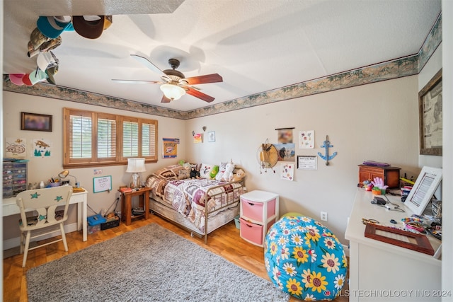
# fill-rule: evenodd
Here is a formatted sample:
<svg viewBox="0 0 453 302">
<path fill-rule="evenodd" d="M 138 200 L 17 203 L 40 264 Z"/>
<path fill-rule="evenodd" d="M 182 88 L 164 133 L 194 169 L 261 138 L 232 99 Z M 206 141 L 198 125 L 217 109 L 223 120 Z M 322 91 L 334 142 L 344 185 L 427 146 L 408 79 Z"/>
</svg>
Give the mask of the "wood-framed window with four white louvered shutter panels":
<svg viewBox="0 0 453 302">
<path fill-rule="evenodd" d="M 65 168 L 157 161 L 157 121 L 64 108 Z"/>
</svg>

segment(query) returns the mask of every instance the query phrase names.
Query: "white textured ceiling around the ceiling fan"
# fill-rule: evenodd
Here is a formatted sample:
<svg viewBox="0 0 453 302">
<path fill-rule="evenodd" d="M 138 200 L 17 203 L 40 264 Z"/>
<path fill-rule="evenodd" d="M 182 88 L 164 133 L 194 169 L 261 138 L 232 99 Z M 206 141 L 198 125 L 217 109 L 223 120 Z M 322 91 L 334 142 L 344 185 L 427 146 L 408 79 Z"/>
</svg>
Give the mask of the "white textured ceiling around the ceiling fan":
<svg viewBox="0 0 453 302">
<path fill-rule="evenodd" d="M 38 16 L 112 14 L 95 40 L 62 33 L 58 86 L 175 110 L 194 110 L 294 83 L 417 54 L 440 14 L 440 0 L 5 0 L 4 74 L 30 73 L 27 56 Z M 217 73 L 197 85 L 213 103 L 184 95 L 162 104 L 159 69 L 180 60 L 186 77 Z"/>
</svg>

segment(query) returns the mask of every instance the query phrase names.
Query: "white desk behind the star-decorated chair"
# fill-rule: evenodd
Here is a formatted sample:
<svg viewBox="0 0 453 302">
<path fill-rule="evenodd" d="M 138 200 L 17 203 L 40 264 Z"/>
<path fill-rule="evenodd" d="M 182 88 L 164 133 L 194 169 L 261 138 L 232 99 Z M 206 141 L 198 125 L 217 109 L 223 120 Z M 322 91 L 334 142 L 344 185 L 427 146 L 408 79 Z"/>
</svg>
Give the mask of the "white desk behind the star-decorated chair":
<svg viewBox="0 0 453 302">
<path fill-rule="evenodd" d="M 84 241 L 87 236 L 86 226 L 86 204 L 88 192 L 72 193 L 69 204 L 77 204 L 77 231 L 83 230 Z M 3 216 L 10 216 L 14 214 L 20 214 L 21 211 L 16 204 L 16 197 L 4 198 L 3 199 Z"/>
</svg>

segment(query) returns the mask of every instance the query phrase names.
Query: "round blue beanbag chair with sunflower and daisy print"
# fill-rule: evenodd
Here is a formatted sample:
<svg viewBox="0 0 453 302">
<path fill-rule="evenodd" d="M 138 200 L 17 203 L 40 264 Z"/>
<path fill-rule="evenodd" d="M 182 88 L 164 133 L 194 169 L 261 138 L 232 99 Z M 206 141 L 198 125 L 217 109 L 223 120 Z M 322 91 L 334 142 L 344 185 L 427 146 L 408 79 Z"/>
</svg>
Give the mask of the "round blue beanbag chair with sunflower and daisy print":
<svg viewBox="0 0 453 302">
<path fill-rule="evenodd" d="M 328 228 L 306 216 L 284 216 L 269 229 L 264 260 L 271 281 L 302 300 L 331 301 L 346 281 L 343 245 Z"/>
</svg>

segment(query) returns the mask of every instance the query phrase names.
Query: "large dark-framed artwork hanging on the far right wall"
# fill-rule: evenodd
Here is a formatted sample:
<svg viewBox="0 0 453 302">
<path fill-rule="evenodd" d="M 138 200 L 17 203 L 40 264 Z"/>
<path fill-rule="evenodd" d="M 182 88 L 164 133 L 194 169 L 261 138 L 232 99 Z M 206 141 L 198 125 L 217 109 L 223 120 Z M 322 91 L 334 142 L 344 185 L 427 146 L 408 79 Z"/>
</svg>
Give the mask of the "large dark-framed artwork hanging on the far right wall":
<svg viewBox="0 0 453 302">
<path fill-rule="evenodd" d="M 418 93 L 420 154 L 442 156 L 442 69 Z"/>
</svg>

